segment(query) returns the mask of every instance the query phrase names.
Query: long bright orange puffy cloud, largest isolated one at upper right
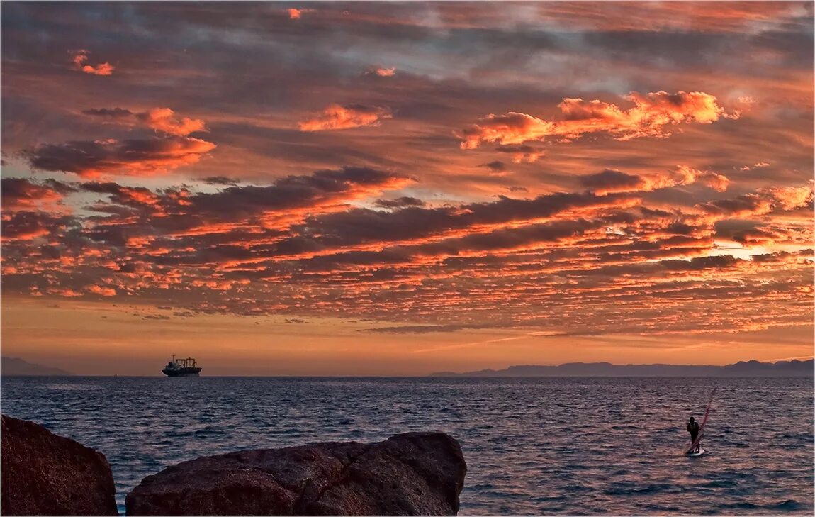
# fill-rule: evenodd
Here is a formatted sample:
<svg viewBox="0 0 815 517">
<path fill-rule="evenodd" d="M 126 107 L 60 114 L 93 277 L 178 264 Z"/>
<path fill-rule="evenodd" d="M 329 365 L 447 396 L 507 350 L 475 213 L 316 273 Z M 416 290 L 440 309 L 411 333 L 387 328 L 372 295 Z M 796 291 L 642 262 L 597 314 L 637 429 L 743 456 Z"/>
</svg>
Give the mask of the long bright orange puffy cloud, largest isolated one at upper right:
<svg viewBox="0 0 815 517">
<path fill-rule="evenodd" d="M 568 142 L 583 135 L 601 133 L 618 140 L 645 136 L 664 138 L 670 126 L 696 122 L 711 124 L 725 113 L 716 97 L 701 91 L 669 94 L 658 91 L 641 95 L 632 91 L 624 99 L 634 106 L 619 108 L 601 100 L 563 99 L 562 120 L 546 121 L 526 113 L 490 114 L 469 126 L 459 135 L 462 149 L 478 148 L 482 143 L 523 144 L 529 141 L 554 139 Z"/>
</svg>

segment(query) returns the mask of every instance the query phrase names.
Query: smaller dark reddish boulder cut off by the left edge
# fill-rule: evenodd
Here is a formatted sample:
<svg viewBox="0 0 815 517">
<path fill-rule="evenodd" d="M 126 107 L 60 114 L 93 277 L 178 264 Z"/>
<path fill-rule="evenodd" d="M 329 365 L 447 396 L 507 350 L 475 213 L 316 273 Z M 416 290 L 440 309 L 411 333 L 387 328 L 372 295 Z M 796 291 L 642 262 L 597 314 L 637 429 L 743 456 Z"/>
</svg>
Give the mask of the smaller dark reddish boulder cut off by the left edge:
<svg viewBox="0 0 815 517">
<path fill-rule="evenodd" d="M 104 454 L 34 422 L 0 421 L 2 515 L 119 515 Z"/>
</svg>

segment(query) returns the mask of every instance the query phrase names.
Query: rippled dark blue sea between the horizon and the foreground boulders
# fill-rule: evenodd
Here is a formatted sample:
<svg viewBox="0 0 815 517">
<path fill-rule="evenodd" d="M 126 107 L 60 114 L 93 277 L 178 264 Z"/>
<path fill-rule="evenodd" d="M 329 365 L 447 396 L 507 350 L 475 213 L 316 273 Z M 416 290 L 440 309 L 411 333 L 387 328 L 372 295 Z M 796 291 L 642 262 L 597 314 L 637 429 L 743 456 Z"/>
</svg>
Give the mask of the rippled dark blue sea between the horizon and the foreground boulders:
<svg viewBox="0 0 815 517">
<path fill-rule="evenodd" d="M 685 422 L 717 387 L 703 447 Z M 108 457 L 117 501 L 199 456 L 446 431 L 459 515 L 813 515 L 813 380 L 2 378 L 2 413 Z"/>
</svg>

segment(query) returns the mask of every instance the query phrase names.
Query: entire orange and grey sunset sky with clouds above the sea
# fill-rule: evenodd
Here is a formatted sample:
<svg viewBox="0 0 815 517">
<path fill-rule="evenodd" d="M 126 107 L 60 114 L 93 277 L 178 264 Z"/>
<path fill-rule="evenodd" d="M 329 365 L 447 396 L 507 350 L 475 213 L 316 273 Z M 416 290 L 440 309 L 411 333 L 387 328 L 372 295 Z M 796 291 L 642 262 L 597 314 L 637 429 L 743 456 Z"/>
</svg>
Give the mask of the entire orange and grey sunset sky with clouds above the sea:
<svg viewBox="0 0 815 517">
<path fill-rule="evenodd" d="M 5 356 L 813 356 L 813 2 L 0 9 Z"/>
</svg>

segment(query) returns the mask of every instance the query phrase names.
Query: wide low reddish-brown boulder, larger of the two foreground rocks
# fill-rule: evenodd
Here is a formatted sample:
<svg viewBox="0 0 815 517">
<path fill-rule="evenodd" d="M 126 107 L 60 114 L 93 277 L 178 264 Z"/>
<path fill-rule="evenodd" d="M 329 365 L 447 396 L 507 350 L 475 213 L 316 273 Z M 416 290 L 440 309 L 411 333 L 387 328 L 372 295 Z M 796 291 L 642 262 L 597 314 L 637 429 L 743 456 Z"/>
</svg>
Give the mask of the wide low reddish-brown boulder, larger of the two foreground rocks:
<svg viewBox="0 0 815 517">
<path fill-rule="evenodd" d="M 149 475 L 127 515 L 456 515 L 466 471 L 438 432 L 246 450 Z"/>
</svg>

